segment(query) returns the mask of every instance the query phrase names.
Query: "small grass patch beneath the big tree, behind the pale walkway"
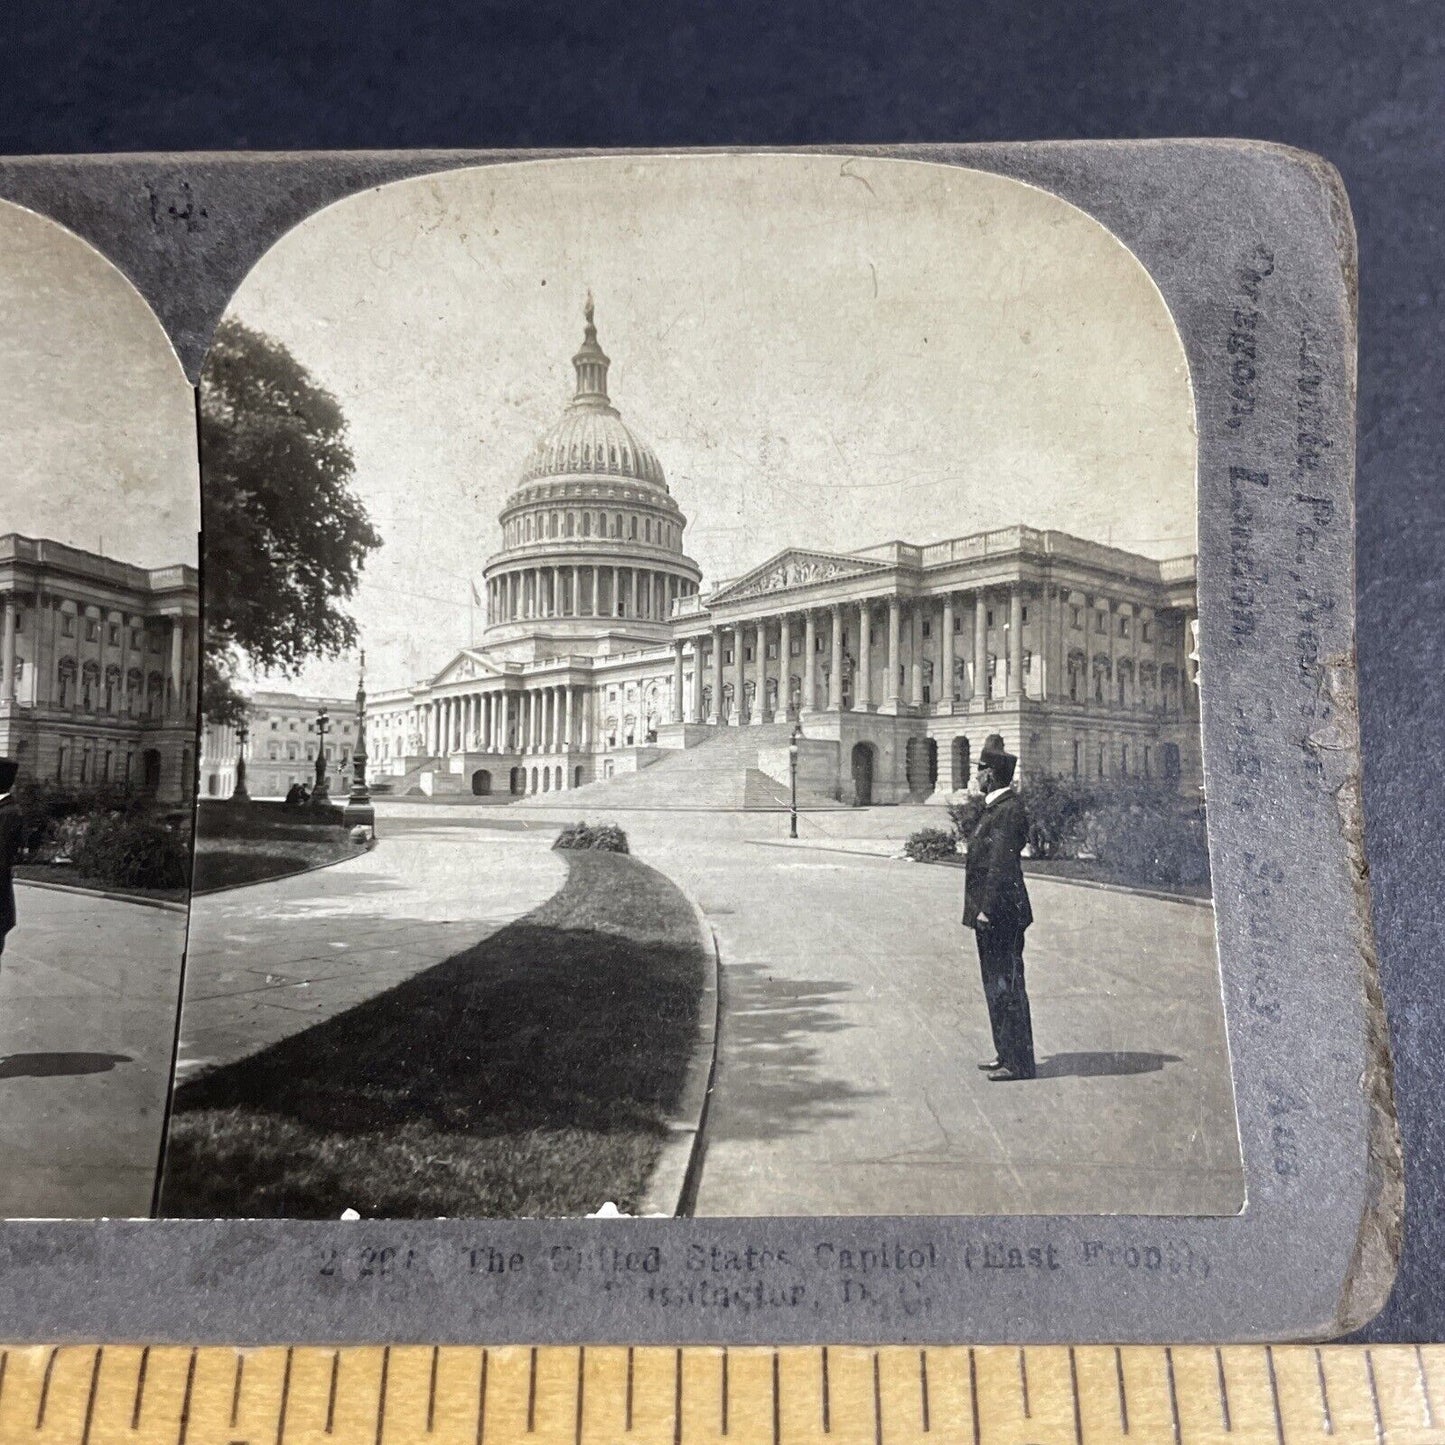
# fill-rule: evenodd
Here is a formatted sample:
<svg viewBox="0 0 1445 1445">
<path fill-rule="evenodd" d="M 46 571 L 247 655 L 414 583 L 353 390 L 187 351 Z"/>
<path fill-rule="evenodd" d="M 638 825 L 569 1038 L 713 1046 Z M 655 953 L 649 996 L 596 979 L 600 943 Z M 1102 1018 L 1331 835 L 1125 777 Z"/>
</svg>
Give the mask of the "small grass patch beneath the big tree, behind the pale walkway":
<svg viewBox="0 0 1445 1445">
<path fill-rule="evenodd" d="M 348 829 L 280 803 L 202 802 L 197 811 L 192 889 L 264 883 L 366 853 Z"/>
</svg>

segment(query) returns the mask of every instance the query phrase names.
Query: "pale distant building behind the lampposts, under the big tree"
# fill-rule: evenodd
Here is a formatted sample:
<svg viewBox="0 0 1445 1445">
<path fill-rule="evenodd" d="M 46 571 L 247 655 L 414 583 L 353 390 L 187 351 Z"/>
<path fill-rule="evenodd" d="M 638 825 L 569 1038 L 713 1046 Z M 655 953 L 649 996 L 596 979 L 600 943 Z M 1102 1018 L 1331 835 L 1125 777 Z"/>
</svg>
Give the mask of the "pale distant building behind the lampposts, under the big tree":
<svg viewBox="0 0 1445 1445">
<path fill-rule="evenodd" d="M 325 741 L 318 715 L 327 709 Z M 342 801 L 351 789 L 351 750 L 355 747 L 354 698 L 312 698 L 293 692 L 253 692 L 246 738 L 246 790 L 251 798 L 285 798 L 292 783 L 316 780 L 316 749 L 327 756 L 331 796 Z M 236 790 L 236 730 L 207 724 L 201 734 L 201 796 L 230 798 Z"/>
</svg>

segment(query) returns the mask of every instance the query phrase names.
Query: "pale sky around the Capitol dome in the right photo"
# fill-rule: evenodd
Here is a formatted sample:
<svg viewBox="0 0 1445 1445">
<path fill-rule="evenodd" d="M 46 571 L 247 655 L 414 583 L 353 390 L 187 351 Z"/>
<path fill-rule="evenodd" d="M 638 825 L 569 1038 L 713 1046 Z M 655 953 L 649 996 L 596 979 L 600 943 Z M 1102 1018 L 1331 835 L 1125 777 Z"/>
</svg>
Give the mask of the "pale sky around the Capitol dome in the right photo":
<svg viewBox="0 0 1445 1445">
<path fill-rule="evenodd" d="M 386 539 L 354 601 L 374 686 L 467 643 L 497 512 L 571 396 L 588 288 L 704 588 L 785 545 L 1016 522 L 1194 548 L 1182 345 L 1147 273 L 1066 202 L 837 156 L 448 172 L 311 217 L 231 306 L 350 419 Z M 355 666 L 283 685 L 345 695 Z"/>
</svg>

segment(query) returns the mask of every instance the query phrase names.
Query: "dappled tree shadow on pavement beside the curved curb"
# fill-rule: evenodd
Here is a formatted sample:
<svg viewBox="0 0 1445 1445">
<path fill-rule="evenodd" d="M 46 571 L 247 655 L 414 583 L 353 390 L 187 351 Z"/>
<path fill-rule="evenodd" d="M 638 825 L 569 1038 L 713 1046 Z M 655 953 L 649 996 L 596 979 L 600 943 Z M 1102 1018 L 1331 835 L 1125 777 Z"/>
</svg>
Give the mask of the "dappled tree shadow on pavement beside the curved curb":
<svg viewBox="0 0 1445 1445">
<path fill-rule="evenodd" d="M 842 1078 L 818 1074 L 816 1039 L 851 1029 L 832 1003 L 853 988 L 829 978 L 777 978 L 756 964 L 731 965 L 722 977 L 720 1072 L 708 1142 L 805 1134 L 822 1120 L 848 1118 L 873 1098 Z M 720 1098 L 728 1103 L 720 1105 Z"/>
</svg>

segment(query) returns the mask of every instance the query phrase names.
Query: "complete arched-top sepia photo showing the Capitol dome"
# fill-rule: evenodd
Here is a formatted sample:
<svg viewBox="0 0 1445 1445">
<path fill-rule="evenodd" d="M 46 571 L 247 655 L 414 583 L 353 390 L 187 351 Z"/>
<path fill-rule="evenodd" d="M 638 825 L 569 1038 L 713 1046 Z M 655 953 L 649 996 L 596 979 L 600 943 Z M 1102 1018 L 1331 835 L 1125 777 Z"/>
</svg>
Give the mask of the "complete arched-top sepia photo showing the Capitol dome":
<svg viewBox="0 0 1445 1445">
<path fill-rule="evenodd" d="M 260 257 L 197 415 L 198 759 L 181 620 L 153 738 L 72 740 L 90 637 L 3 749 L 197 769 L 162 1215 L 1243 1208 L 1195 402 L 1097 220 L 858 156 L 393 182 Z"/>
</svg>

